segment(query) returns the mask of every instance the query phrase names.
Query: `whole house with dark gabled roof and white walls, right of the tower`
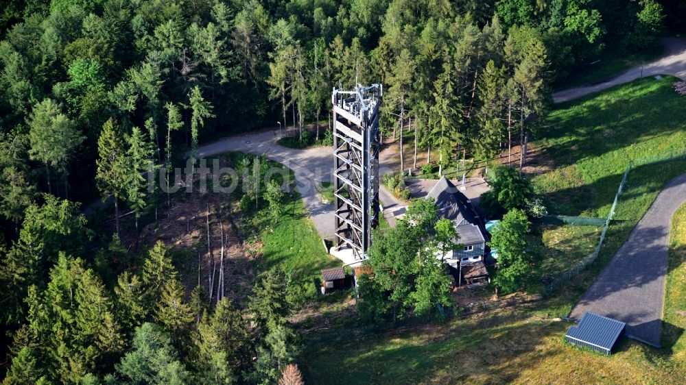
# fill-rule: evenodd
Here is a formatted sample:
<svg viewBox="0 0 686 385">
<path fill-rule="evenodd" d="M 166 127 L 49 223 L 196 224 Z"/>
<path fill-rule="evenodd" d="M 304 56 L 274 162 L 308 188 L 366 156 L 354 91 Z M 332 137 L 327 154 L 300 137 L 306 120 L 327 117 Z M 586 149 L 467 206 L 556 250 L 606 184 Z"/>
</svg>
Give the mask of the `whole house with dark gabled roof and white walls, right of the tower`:
<svg viewBox="0 0 686 385">
<path fill-rule="evenodd" d="M 442 218 L 450 219 L 456 233 L 460 236 L 457 240 L 460 247 L 454 249 L 452 253 L 448 253 L 444 261 L 458 271 L 462 271 L 464 265 L 477 264 L 477 266 L 470 266 L 465 271 L 485 272 L 484 254 L 489 238 L 486 227 L 484 227 L 484 221 L 472 206 L 471 201 L 445 176 L 438 180 L 436 186 L 427 194 L 426 199 L 433 199 L 436 202 L 438 214 Z M 475 281 L 480 281 L 482 277 L 472 278 Z M 487 273 L 483 278 L 487 280 Z"/>
</svg>

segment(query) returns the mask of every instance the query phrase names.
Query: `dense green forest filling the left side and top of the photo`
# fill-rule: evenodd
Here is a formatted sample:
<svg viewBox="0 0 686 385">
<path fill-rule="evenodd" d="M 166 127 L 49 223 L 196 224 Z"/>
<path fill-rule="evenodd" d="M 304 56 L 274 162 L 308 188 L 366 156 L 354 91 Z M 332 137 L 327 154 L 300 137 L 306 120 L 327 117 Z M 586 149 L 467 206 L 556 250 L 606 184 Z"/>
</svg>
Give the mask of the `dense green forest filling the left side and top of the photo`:
<svg viewBox="0 0 686 385">
<path fill-rule="evenodd" d="M 3 384 L 276 383 L 297 371 L 285 276 L 260 272 L 241 303 L 184 287 L 168 245 L 118 236 L 120 212 L 137 235 L 166 204 L 141 175 L 168 181 L 203 142 L 276 121 L 323 140 L 332 88 L 356 83 L 383 84 L 383 135 L 412 119 L 440 166 L 515 146 L 525 164 L 554 88 L 683 31 L 685 12 L 676 0 L 3 1 Z M 86 217 L 98 199 L 115 223 Z"/>
</svg>

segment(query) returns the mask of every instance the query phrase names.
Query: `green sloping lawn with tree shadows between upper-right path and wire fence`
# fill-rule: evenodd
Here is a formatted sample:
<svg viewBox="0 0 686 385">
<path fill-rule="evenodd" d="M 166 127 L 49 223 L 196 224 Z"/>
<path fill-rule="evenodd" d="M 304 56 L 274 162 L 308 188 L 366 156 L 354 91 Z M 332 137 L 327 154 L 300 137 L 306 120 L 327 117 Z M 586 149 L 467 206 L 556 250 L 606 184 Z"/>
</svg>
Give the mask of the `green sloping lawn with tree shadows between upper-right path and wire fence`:
<svg viewBox="0 0 686 385">
<path fill-rule="evenodd" d="M 686 98 L 675 80 L 639 79 L 551 112 L 533 143 L 549 171 L 532 178 L 549 212 L 607 216 L 629 160 L 686 148 Z"/>
</svg>

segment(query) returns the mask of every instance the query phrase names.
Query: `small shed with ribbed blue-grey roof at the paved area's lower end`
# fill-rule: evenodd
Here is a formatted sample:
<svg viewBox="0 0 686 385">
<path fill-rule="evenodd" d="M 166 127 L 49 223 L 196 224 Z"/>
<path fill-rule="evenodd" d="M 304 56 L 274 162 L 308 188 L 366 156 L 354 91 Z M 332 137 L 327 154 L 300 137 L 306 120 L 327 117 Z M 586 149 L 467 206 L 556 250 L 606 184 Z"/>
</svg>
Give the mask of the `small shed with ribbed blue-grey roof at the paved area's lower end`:
<svg viewBox="0 0 686 385">
<path fill-rule="evenodd" d="M 573 345 L 587 347 L 598 353 L 609 355 L 624 334 L 626 323 L 585 312 L 579 325 L 572 326 L 565 334 L 565 340 Z"/>
</svg>

